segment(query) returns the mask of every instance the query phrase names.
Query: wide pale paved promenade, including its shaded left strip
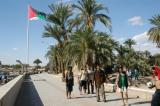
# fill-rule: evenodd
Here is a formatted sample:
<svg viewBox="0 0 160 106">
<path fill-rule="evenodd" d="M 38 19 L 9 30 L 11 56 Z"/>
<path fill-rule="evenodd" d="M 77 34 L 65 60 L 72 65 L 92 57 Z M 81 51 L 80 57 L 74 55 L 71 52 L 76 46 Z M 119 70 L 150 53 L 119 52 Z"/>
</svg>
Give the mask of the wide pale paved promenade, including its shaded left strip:
<svg viewBox="0 0 160 106">
<path fill-rule="evenodd" d="M 96 102 L 95 94 L 79 95 L 75 84 L 72 99 L 66 99 L 65 83 L 47 73 L 31 75 L 21 88 L 15 106 L 122 106 L 117 93 L 106 93 L 107 102 Z M 129 106 L 150 106 L 150 100 L 129 97 Z"/>
</svg>

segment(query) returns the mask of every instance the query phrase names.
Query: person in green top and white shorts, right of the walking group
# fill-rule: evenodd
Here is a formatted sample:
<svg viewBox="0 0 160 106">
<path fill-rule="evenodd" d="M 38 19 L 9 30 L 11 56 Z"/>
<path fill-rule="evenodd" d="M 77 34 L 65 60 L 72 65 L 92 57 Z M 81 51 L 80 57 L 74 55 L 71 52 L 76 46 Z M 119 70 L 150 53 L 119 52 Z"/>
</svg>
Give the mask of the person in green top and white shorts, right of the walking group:
<svg viewBox="0 0 160 106">
<path fill-rule="evenodd" d="M 116 85 L 118 91 L 121 93 L 123 105 L 128 104 L 128 77 L 125 69 L 121 68 L 117 75 Z M 124 101 L 124 94 L 126 96 L 126 103 Z"/>
</svg>

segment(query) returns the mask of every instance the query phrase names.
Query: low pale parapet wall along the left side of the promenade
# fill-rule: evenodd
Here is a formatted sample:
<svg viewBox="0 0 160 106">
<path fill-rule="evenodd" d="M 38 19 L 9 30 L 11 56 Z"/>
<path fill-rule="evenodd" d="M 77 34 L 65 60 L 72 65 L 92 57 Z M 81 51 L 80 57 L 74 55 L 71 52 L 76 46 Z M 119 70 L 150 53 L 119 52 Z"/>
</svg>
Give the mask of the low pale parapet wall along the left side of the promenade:
<svg viewBox="0 0 160 106">
<path fill-rule="evenodd" d="M 24 75 L 19 75 L 0 87 L 0 106 L 14 106 L 23 80 Z"/>
</svg>

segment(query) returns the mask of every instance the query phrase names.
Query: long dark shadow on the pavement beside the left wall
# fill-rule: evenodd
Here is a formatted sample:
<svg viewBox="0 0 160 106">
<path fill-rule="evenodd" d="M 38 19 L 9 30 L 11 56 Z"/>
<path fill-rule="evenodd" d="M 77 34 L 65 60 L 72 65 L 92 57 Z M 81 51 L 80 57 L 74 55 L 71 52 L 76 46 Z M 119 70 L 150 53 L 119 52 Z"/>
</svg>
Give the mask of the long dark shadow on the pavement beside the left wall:
<svg viewBox="0 0 160 106">
<path fill-rule="evenodd" d="M 30 76 L 24 80 L 14 106 L 44 106 Z"/>
</svg>

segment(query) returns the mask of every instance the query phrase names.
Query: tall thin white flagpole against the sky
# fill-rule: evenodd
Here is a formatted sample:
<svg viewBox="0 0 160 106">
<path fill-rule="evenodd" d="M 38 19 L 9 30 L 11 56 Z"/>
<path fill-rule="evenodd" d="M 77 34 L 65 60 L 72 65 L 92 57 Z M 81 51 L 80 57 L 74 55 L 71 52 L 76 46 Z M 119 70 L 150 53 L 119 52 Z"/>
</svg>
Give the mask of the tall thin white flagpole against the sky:
<svg viewBox="0 0 160 106">
<path fill-rule="evenodd" d="M 27 65 L 29 65 L 29 5 L 28 5 L 28 17 L 27 17 Z"/>
</svg>

